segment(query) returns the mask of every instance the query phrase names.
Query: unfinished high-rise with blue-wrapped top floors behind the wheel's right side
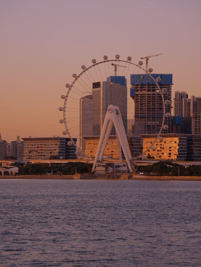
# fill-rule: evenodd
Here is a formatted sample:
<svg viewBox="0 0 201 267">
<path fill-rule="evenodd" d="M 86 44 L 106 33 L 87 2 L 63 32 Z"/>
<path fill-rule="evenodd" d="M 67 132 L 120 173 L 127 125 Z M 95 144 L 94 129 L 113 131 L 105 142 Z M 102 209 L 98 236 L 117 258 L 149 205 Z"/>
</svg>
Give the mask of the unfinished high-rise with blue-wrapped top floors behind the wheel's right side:
<svg viewBox="0 0 201 267">
<path fill-rule="evenodd" d="M 160 77 L 158 83 L 160 89 L 164 88 L 164 100 L 169 100 L 166 104 L 166 113 L 171 114 L 171 86 L 172 74 L 151 74 L 154 79 Z M 134 100 L 135 135 L 157 134 L 160 131 L 163 121 L 163 101 L 162 96 L 154 80 L 148 74 L 131 74 L 130 96 Z M 165 117 L 167 130 L 162 133 L 171 133 L 171 117 Z"/>
</svg>

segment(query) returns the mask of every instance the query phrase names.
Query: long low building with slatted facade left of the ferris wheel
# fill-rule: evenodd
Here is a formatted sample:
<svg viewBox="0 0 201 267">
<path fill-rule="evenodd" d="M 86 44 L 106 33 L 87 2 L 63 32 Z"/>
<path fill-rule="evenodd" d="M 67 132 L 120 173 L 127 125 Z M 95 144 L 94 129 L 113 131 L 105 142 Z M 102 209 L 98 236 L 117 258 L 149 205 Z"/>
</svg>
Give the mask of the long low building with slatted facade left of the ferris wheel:
<svg viewBox="0 0 201 267">
<path fill-rule="evenodd" d="M 49 159 L 57 156 L 63 159 L 76 159 L 76 147 L 68 146 L 70 138 L 64 137 L 28 137 L 24 141 L 23 160 Z M 73 141 L 77 142 L 74 138 Z"/>
</svg>

